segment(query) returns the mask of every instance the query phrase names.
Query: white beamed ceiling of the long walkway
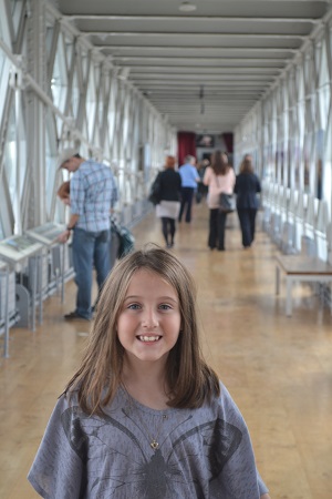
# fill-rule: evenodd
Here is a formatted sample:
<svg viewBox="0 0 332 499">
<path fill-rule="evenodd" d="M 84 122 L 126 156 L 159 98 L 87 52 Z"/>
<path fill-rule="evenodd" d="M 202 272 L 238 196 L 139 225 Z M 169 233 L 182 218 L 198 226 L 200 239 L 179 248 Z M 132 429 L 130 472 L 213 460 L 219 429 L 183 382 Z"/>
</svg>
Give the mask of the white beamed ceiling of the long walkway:
<svg viewBox="0 0 332 499">
<path fill-rule="evenodd" d="M 321 24 L 331 0 L 59 0 L 178 130 L 227 132 Z"/>
</svg>

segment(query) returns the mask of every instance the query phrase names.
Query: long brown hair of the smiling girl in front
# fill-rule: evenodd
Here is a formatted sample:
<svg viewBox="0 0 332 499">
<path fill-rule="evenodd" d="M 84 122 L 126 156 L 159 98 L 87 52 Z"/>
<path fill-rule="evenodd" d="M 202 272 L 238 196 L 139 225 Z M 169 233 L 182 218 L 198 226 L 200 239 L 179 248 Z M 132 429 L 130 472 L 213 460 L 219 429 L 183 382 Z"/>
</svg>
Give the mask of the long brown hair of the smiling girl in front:
<svg viewBox="0 0 332 499">
<path fill-rule="evenodd" d="M 181 332 L 166 363 L 169 407 L 201 407 L 212 395 L 220 394 L 218 376 L 204 360 L 199 346 L 194 279 L 174 254 L 148 245 L 125 256 L 111 272 L 81 366 L 66 385 L 65 393 L 71 396 L 77 391 L 79 404 L 86 414 L 102 415 L 121 385 L 124 348 L 116 325 L 129 282 L 141 268 L 163 277 L 179 298 Z"/>
</svg>

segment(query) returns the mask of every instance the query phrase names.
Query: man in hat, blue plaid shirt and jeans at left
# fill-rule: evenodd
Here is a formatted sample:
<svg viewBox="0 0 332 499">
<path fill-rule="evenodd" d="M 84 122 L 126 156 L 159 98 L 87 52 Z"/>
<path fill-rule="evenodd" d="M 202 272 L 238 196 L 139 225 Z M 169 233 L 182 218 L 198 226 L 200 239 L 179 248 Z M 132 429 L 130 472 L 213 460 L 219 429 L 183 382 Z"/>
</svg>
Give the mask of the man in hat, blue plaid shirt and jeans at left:
<svg viewBox="0 0 332 499">
<path fill-rule="evenodd" d="M 111 211 L 117 201 L 117 189 L 110 166 L 81 157 L 75 149 L 65 149 L 59 167 L 72 173 L 70 180 L 71 216 L 59 236 L 65 243 L 73 233 L 73 266 L 77 286 L 76 307 L 66 320 L 92 317 L 91 293 L 93 267 L 98 292 L 111 271 Z"/>
</svg>

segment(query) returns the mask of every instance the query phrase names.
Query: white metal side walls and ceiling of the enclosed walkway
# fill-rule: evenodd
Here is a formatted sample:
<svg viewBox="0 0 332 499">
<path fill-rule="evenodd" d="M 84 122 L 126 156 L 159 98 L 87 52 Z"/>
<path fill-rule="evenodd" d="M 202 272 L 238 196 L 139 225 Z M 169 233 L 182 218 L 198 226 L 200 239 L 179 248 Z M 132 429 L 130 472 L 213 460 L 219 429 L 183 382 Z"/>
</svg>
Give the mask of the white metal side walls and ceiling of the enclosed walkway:
<svg viewBox="0 0 332 499">
<path fill-rule="evenodd" d="M 129 220 L 198 119 L 331 218 L 331 2 L 178 3 L 0 0 L 0 238 L 63 221 L 68 145 L 110 164 Z"/>
</svg>

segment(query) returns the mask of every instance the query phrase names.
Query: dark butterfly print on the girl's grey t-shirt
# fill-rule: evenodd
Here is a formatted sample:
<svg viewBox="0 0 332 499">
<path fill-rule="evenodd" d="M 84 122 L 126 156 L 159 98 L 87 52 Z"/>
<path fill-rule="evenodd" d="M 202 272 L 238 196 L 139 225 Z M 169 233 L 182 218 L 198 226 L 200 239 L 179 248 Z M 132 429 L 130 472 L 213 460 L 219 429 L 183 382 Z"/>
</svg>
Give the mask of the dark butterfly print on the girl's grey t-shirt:
<svg viewBox="0 0 332 499">
<path fill-rule="evenodd" d="M 125 409 L 123 413 L 133 421 Z M 177 428 L 190 419 L 191 416 L 187 417 Z M 91 493 L 101 498 L 164 499 L 178 497 L 180 486 L 181 490 L 195 491 L 196 498 L 205 498 L 200 481 L 193 478 L 193 469 L 201 468 L 204 461 L 205 482 L 212 485 L 242 438 L 237 427 L 217 418 L 194 426 L 174 439 L 168 436 L 170 451 L 164 451 L 160 442 L 147 456 L 137 438 L 139 434 L 134 435 L 111 416 L 89 417 L 79 407 L 70 407 L 61 421 L 70 446 L 85 468 L 87 490 L 82 497 Z"/>
</svg>

